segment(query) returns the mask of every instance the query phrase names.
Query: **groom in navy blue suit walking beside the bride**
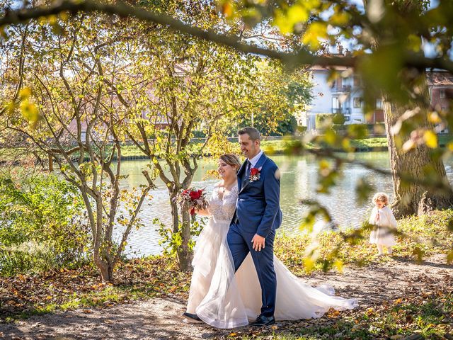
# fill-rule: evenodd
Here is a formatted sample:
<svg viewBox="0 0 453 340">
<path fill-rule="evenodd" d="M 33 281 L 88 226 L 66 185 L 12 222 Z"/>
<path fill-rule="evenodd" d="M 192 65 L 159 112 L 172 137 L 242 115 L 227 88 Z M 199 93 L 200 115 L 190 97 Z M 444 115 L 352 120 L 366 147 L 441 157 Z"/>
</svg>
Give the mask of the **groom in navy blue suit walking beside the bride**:
<svg viewBox="0 0 453 340">
<path fill-rule="evenodd" d="M 256 128 L 243 128 L 238 133 L 247 159 L 238 172 L 239 197 L 227 240 L 235 271 L 251 252 L 263 302 L 261 314 L 251 325 L 268 326 L 275 324 L 274 238 L 275 229 L 282 223 L 280 172 L 260 150 L 260 132 Z"/>
</svg>

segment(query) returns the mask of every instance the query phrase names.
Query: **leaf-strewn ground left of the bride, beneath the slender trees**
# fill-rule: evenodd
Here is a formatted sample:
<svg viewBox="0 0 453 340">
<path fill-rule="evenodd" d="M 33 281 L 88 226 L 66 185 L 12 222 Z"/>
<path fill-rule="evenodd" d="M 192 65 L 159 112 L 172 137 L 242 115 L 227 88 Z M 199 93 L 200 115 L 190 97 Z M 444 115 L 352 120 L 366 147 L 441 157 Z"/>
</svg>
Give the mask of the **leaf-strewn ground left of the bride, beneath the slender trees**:
<svg viewBox="0 0 453 340">
<path fill-rule="evenodd" d="M 178 271 L 175 259 L 149 256 L 115 268 L 115 284 L 100 283 L 92 266 L 62 268 L 40 275 L 0 278 L 0 321 L 82 307 L 109 307 L 151 297 L 188 297 L 190 274 Z"/>
</svg>

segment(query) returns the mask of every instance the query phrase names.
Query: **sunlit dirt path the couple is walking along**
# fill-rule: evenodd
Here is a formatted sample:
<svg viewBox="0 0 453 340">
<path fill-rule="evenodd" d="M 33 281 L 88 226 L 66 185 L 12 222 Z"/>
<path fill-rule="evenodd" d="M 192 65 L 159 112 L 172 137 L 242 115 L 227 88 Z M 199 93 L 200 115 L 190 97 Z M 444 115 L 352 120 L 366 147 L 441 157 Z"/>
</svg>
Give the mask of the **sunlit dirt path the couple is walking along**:
<svg viewBox="0 0 453 340">
<path fill-rule="evenodd" d="M 426 283 L 440 283 L 453 277 L 453 266 L 444 256 L 418 264 L 413 261 L 372 263 L 366 268 L 348 267 L 343 274 L 318 273 L 304 277 L 307 283 L 328 283 L 338 295 L 357 297 L 361 308 L 394 300 Z M 215 339 L 229 330 L 205 324 L 186 324 L 180 317 L 185 301 L 152 299 L 108 308 L 92 308 L 30 317 L 12 324 L 0 324 L 4 339 Z"/>
</svg>

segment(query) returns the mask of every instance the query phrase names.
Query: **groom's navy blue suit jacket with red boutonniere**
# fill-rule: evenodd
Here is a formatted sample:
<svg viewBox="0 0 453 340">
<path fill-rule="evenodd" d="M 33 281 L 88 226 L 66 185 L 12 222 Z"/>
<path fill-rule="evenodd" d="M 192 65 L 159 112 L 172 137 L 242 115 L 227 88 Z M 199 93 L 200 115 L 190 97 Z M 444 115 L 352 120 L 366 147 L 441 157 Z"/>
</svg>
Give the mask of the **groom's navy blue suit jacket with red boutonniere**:
<svg viewBox="0 0 453 340">
<path fill-rule="evenodd" d="M 233 221 L 239 229 L 250 234 L 268 237 L 271 230 L 282 224 L 280 209 L 280 171 L 272 159 L 262 154 L 254 166 L 260 169 L 260 179 L 244 179 L 247 161 L 238 172 L 239 196 Z"/>
</svg>

